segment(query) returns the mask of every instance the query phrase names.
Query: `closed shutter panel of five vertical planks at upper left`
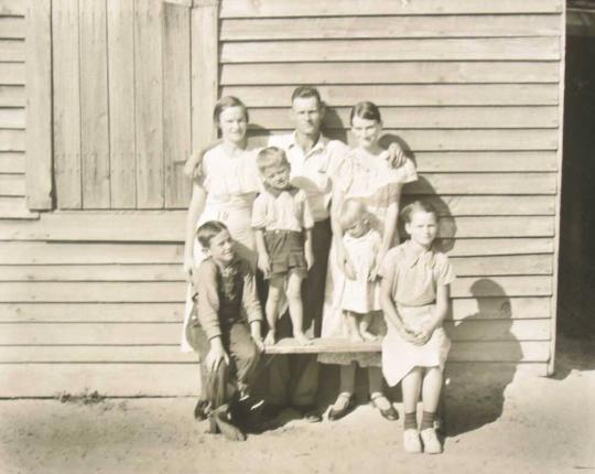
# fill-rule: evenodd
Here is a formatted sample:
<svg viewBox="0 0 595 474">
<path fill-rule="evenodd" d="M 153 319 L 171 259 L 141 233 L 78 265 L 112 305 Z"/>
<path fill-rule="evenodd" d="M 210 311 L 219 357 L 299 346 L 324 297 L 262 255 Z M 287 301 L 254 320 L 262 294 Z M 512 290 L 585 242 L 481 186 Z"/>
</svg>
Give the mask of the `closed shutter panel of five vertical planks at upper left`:
<svg viewBox="0 0 595 474">
<path fill-rule="evenodd" d="M 55 0 L 52 34 L 57 207 L 185 207 L 190 10 Z"/>
</svg>

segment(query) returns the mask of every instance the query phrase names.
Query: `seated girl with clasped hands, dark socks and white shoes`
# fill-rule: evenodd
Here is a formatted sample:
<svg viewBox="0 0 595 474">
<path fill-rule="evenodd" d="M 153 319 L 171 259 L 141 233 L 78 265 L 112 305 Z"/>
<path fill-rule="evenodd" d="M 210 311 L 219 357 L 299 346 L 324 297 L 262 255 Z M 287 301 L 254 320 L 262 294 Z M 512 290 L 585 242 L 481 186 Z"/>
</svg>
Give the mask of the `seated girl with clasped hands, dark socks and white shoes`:
<svg viewBox="0 0 595 474">
<path fill-rule="evenodd" d="M 401 383 L 407 452 L 442 452 L 434 418 L 442 371 L 451 346 L 442 322 L 450 304 L 454 273 L 448 258 L 432 247 L 437 214 L 416 201 L 401 212 L 410 240 L 389 250 L 380 269 L 381 304 L 387 320 L 382 373 L 390 386 Z M 418 431 L 416 408 L 422 392 L 423 416 Z M 421 441 L 420 441 L 421 435 Z"/>
</svg>

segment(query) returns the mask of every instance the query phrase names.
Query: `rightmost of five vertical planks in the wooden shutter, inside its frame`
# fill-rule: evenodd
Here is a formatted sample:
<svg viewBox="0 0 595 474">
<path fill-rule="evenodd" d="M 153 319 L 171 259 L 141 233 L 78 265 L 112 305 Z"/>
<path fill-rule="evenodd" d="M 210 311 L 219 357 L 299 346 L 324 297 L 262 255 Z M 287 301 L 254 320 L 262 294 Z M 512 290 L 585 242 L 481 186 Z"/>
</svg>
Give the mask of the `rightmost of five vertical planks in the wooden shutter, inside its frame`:
<svg viewBox="0 0 595 474">
<path fill-rule="evenodd" d="M 191 153 L 191 13 L 165 4 L 163 35 L 163 158 L 165 207 L 186 207 L 191 180 L 183 164 Z M 206 114 L 208 115 L 208 114 Z"/>
</svg>

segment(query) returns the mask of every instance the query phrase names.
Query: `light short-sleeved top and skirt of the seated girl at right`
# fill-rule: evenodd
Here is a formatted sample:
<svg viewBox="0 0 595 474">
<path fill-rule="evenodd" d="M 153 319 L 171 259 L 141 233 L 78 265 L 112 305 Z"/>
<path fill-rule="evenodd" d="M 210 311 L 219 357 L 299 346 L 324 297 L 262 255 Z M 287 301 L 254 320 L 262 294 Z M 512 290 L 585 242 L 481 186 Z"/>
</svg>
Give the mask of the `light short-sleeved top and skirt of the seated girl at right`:
<svg viewBox="0 0 595 474">
<path fill-rule="evenodd" d="M 420 254 L 411 240 L 387 254 L 380 274 L 390 282 L 401 321 L 412 330 L 421 328 L 434 317 L 437 287 L 450 284 L 455 278 L 444 254 L 433 249 Z M 389 386 L 401 381 L 413 367 L 444 368 L 451 341 L 442 326 L 422 346 L 403 340 L 390 323 L 387 326 L 382 340 L 382 374 Z"/>
</svg>

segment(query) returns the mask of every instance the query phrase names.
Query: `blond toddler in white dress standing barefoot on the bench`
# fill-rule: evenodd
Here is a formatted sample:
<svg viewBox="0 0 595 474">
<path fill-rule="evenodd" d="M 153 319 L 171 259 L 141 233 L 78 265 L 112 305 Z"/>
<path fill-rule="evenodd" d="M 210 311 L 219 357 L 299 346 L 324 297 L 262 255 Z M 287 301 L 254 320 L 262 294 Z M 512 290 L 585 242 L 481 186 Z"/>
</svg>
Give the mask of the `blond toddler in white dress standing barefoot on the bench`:
<svg viewBox="0 0 595 474">
<path fill-rule="evenodd" d="M 376 341 L 368 328 L 371 312 L 380 311 L 380 284 L 374 274 L 376 257 L 382 246 L 382 237 L 370 227 L 370 215 L 366 206 L 356 200 L 346 200 L 340 208 L 338 222 L 343 231 L 343 246 L 349 266 L 349 278 L 344 280 L 340 308 L 347 321 L 353 342 Z"/>
</svg>

